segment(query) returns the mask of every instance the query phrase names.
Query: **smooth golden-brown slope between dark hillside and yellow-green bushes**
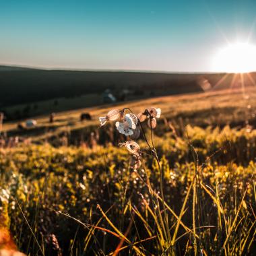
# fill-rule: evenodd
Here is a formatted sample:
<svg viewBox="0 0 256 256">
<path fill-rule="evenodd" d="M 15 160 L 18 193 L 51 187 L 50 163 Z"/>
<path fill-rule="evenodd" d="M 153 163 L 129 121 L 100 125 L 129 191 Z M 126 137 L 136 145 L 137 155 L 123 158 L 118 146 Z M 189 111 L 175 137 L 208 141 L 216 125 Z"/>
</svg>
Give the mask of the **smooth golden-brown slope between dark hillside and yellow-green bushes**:
<svg viewBox="0 0 256 256">
<path fill-rule="evenodd" d="M 98 117 L 104 116 L 112 108 L 129 108 L 139 113 L 145 106 L 158 106 L 162 109 L 161 123 L 171 121 L 174 125 L 181 122 L 183 125 L 197 125 L 200 127 L 219 126 L 243 127 L 246 123 L 256 124 L 256 89 L 220 90 L 216 92 L 183 94 L 181 96 L 164 96 L 146 100 L 134 100 L 121 104 L 100 105 L 90 108 L 80 108 L 57 113 L 54 123 L 49 123 L 49 116 L 34 117 L 38 125 L 33 129 L 20 131 L 17 126 L 22 122 L 3 124 L 3 132 L 7 135 L 29 137 L 32 141 L 51 142 L 63 133 L 74 132 L 81 136 L 89 135 L 88 131 L 98 131 Z M 91 121 L 80 121 L 82 113 L 90 113 Z M 24 122 L 23 122 L 24 124 Z M 88 129 L 90 127 L 90 129 Z M 161 132 L 157 131 L 157 132 Z"/>
</svg>

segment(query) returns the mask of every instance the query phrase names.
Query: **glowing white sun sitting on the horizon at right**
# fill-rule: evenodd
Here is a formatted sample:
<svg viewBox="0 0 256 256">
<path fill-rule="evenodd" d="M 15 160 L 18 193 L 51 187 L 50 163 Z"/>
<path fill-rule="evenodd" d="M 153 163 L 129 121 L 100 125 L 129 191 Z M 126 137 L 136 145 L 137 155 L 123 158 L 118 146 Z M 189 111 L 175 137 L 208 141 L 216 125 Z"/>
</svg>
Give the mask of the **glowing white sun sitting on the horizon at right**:
<svg viewBox="0 0 256 256">
<path fill-rule="evenodd" d="M 226 73 L 256 71 L 256 45 L 239 42 L 220 49 L 214 56 L 213 69 Z"/>
</svg>

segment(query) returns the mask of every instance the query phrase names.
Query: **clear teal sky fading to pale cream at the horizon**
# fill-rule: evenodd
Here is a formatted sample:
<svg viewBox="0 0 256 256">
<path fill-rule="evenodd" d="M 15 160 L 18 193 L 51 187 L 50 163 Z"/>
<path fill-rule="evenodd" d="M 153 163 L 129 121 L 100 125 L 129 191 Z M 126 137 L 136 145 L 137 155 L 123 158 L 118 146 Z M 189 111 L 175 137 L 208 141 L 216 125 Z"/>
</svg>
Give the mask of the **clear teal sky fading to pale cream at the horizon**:
<svg viewBox="0 0 256 256">
<path fill-rule="evenodd" d="M 256 44 L 255 0 L 0 0 L 0 64 L 213 71 L 222 47 Z"/>
</svg>

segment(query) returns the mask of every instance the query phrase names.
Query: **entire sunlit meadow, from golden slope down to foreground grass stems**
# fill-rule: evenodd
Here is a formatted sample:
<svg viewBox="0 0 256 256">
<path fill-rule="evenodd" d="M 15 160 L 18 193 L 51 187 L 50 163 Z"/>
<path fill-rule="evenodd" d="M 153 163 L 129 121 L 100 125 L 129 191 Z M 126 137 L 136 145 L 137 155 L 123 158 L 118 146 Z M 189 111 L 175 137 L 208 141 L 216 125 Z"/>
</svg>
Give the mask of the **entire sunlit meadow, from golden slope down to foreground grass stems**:
<svg viewBox="0 0 256 256">
<path fill-rule="evenodd" d="M 228 89 L 4 123 L 0 229 L 26 255 L 255 255 L 255 100 Z M 162 115 L 139 123 L 138 161 L 98 117 L 150 106 Z"/>
</svg>

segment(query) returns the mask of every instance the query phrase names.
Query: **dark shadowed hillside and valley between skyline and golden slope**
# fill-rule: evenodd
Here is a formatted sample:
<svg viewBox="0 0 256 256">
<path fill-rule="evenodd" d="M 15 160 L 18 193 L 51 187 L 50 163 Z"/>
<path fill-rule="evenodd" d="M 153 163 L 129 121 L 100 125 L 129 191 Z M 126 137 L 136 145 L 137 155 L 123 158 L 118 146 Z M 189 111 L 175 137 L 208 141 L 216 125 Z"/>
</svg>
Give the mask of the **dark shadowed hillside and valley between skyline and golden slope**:
<svg viewBox="0 0 256 256">
<path fill-rule="evenodd" d="M 255 86 L 256 73 L 155 73 L 135 71 L 47 70 L 0 65 L 0 112 L 7 121 L 98 106 L 105 90 L 117 102 Z M 15 92 L 15 93 L 13 93 Z"/>
</svg>

